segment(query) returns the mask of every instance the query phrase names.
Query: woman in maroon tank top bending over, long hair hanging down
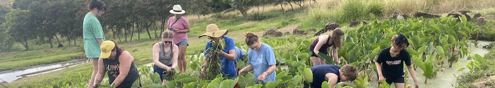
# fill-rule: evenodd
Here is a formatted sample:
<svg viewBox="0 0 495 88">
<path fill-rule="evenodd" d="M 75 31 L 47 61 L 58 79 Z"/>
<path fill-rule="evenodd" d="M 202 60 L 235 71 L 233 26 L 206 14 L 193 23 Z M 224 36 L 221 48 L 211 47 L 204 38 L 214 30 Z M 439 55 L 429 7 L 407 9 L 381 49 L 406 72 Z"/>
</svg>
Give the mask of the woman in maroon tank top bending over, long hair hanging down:
<svg viewBox="0 0 495 88">
<path fill-rule="evenodd" d="M 342 48 L 341 39 L 344 36 L 344 31 L 342 29 L 337 28 L 334 29 L 331 35 L 321 35 L 316 40 L 313 41 L 311 46 L 309 47 L 309 51 L 313 54 L 309 59 L 313 63 L 313 66 L 327 64 L 325 61 L 321 60 L 316 56 L 318 53 L 328 54 L 327 49 L 330 46 L 332 48 L 332 58 L 335 60 L 335 64 L 339 64 L 339 56 L 337 55 L 337 48 Z"/>
</svg>

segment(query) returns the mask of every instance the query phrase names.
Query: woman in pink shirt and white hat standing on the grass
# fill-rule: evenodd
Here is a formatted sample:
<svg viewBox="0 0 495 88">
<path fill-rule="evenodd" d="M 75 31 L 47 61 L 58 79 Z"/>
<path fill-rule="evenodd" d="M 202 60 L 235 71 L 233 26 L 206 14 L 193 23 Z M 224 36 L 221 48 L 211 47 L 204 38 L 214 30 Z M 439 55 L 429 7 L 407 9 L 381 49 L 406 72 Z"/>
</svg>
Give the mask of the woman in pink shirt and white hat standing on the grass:
<svg viewBox="0 0 495 88">
<path fill-rule="evenodd" d="M 181 5 L 174 5 L 173 9 L 169 11 L 174 14 L 173 17 L 168 19 L 167 29 L 172 30 L 174 38 L 172 38 L 172 43 L 179 46 L 179 72 L 183 73 L 186 71 L 186 49 L 189 45 L 187 32 L 190 32 L 189 22 L 186 18 L 182 17 L 182 14 L 186 11 L 182 10 Z"/>
</svg>

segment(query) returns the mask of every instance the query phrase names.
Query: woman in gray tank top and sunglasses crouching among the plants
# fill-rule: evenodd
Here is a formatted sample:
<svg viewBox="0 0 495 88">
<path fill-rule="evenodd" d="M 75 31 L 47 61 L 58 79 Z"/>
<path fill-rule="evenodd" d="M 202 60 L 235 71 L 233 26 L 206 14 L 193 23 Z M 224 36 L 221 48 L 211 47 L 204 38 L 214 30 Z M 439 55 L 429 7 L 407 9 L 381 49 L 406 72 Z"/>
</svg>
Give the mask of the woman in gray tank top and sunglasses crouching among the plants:
<svg viewBox="0 0 495 88">
<path fill-rule="evenodd" d="M 153 71 L 160 75 L 162 85 L 166 83 L 162 75 L 172 72 L 172 69 L 177 67 L 177 59 L 179 58 L 179 47 L 172 44 L 172 38 L 171 31 L 164 31 L 161 34 L 162 42 L 153 45 Z"/>
</svg>

